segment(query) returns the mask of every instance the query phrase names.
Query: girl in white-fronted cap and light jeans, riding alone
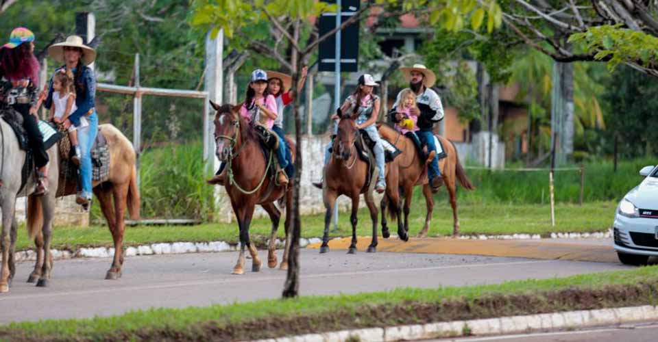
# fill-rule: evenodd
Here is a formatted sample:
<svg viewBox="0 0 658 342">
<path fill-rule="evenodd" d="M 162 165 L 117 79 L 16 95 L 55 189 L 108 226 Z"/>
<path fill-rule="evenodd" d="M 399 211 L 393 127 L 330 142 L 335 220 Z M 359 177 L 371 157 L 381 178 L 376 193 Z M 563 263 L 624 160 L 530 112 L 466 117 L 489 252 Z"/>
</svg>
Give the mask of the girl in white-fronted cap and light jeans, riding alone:
<svg viewBox="0 0 658 342">
<path fill-rule="evenodd" d="M 340 110 L 343 116 L 356 117 L 356 128 L 365 132 L 370 140 L 375 143 L 372 152 L 375 155 L 375 164 L 379 169 L 379 176 L 375 189 L 380 194 L 386 189 L 385 179 L 385 159 L 384 159 L 384 146 L 382 145 L 381 137 L 377 131 L 376 120 L 380 108 L 379 96 L 372 93 L 374 87 L 379 86 L 371 75 L 363 74 L 358 77 L 358 86 L 354 93 L 345 99 Z M 332 120 L 338 120 L 339 117 L 334 114 Z M 332 143 L 329 143 L 324 153 L 324 165 L 326 166 L 331 157 L 330 148 Z M 315 187 L 322 187 L 321 183 L 313 183 Z"/>
</svg>

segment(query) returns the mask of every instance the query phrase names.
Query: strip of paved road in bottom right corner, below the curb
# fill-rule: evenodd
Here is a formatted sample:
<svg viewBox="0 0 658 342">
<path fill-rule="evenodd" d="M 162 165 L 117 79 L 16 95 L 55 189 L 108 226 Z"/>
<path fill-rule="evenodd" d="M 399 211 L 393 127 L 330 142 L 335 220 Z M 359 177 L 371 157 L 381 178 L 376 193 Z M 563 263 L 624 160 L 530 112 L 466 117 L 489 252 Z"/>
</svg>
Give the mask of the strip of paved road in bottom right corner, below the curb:
<svg viewBox="0 0 658 342">
<path fill-rule="evenodd" d="M 653 342 L 658 338 L 656 323 L 625 324 L 589 330 L 516 334 L 500 337 L 473 337 L 470 339 L 441 339 L 436 342 Z"/>
</svg>

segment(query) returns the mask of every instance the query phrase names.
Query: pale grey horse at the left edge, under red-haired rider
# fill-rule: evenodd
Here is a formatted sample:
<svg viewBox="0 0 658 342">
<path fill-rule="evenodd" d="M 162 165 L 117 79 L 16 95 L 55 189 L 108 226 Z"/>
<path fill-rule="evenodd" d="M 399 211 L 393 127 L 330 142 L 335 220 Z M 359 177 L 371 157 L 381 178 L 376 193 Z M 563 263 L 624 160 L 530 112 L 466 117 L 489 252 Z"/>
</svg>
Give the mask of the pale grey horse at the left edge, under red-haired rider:
<svg viewBox="0 0 658 342">
<path fill-rule="evenodd" d="M 5 116 L 10 116 L 10 111 L 5 111 Z M 15 114 L 20 116 L 20 114 Z M 16 233 L 18 225 L 16 224 L 15 208 L 16 198 L 22 196 L 30 196 L 36 189 L 36 179 L 34 172 L 29 169 L 27 172 L 27 182 L 21 189 L 21 178 L 23 176 L 22 166 L 25 162 L 26 151 L 19 148 L 19 140 L 12 130 L 12 127 L 0 119 L 0 138 L 1 142 L 1 155 L 0 161 L 0 205 L 2 207 L 2 236 L 0 238 L 0 249 L 2 250 L 2 266 L 0 268 L 0 293 L 9 291 L 9 287 L 16 274 L 16 264 L 14 261 L 14 247 L 16 245 Z M 59 151 L 57 144 L 53 144 L 47 150 L 49 157 L 48 171 L 46 174 L 49 179 L 49 189 L 47 194 L 39 197 L 34 197 L 34 202 L 38 202 L 42 212 L 39 215 L 42 217 L 40 221 L 39 231 L 42 232 L 42 245 L 37 252 L 45 256 L 45 262 L 38 265 L 38 281 L 36 286 L 46 287 L 50 278 L 51 269 L 53 267 L 52 256 L 50 253 L 51 231 L 52 222 L 55 211 L 55 192 L 53 191 L 58 187 L 58 174 L 59 174 Z M 20 192 L 20 193 L 19 193 Z M 28 213 L 27 220 L 30 220 Z M 28 226 L 28 231 L 34 229 Z M 35 268 L 34 272 L 37 272 Z M 35 278 L 35 281 L 37 280 Z"/>
</svg>

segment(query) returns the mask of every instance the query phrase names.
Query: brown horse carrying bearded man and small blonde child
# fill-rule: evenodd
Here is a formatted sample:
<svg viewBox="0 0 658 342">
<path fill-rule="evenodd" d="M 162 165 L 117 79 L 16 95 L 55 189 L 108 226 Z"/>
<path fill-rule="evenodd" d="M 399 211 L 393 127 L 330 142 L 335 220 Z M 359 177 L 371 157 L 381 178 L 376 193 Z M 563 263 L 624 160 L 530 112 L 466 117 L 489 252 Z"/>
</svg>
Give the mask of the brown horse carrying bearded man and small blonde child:
<svg viewBox="0 0 658 342">
<path fill-rule="evenodd" d="M 409 137 L 404 136 L 404 134 L 389 127 L 387 124 L 380 124 L 378 131 L 382 138 L 394 144 L 395 147 L 397 147 L 399 150 L 402 150 L 402 153 L 398 156 L 399 160 L 397 172 L 391 170 L 391 172 L 389 172 L 387 175 L 387 192 L 386 196 L 382 198 L 382 202 L 380 203 L 382 207 L 382 235 L 386 237 L 389 234 L 389 228 L 387 227 L 384 214 L 384 211 L 387 210 L 387 205 L 389 205 L 388 212 L 391 218 L 398 220 L 399 229 L 401 220 L 400 200 L 396 196 L 391 196 L 391 194 L 398 194 L 398 191 L 404 197 L 404 230 L 409 231 L 409 207 L 411 205 L 413 187 L 416 185 L 421 185 L 422 183 L 427 213 L 425 215 L 425 225 L 417 236 L 426 237 L 430 228 L 430 221 L 432 220 L 434 198 L 432 196 L 432 191 L 430 189 L 430 185 L 428 184 L 428 180 L 425 179 L 422 182 L 419 182 L 419 180 L 424 174 L 424 170 L 428 161 L 424 161 L 418 157 L 417 148 L 413 144 L 413 141 L 409 139 Z M 441 170 L 443 183 L 446 184 L 446 189 L 448 189 L 448 194 L 450 195 L 450 205 L 452 206 L 453 217 L 452 235 L 456 236 L 459 234 L 456 180 L 459 181 L 464 189 L 473 190 L 475 187 L 471 184 L 470 180 L 466 176 L 466 173 L 464 172 L 464 168 L 459 162 L 459 156 L 457 155 L 457 150 L 454 147 L 454 144 L 452 144 L 452 142 L 450 142 L 450 140 L 446 139 L 445 137 L 437 135 L 437 138 L 441 141 L 441 144 L 443 145 L 443 148 L 446 149 L 447 154 L 447 157 L 439 160 L 439 170 Z"/>
</svg>

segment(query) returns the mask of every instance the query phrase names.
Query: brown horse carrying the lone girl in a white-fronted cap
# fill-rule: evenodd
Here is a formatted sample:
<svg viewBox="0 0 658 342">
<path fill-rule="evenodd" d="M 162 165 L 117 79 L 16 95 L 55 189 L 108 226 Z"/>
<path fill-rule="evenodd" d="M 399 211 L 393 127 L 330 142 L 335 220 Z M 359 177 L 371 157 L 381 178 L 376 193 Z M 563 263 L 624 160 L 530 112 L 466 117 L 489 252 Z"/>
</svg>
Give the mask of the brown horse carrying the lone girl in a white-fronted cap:
<svg viewBox="0 0 658 342">
<path fill-rule="evenodd" d="M 340 116 L 339 111 L 339 116 Z M 372 187 L 376 176 L 371 175 L 369 172 L 369 165 L 358 157 L 356 150 L 356 139 L 358 129 L 356 122 L 349 116 L 342 116 L 338 124 L 338 135 L 334 139 L 332 146 L 332 156 L 329 159 L 324 170 L 324 183 L 322 185 L 322 195 L 324 198 L 324 206 L 327 212 L 324 216 L 324 235 L 322 237 L 322 246 L 320 253 L 329 251 L 329 224 L 334 209 L 334 204 L 338 196 L 345 195 L 352 199 L 352 215 L 350 221 L 352 222 L 352 244 L 350 244 L 349 254 L 356 252 L 356 224 L 358 213 L 358 200 L 359 196 L 363 194 L 365 202 L 370 211 L 370 218 L 372 220 L 372 241 L 368 246 L 367 252 L 376 252 L 377 250 L 377 207 L 372 196 Z M 374 162 L 374 161 L 373 161 Z M 396 168 L 397 166 L 389 165 L 388 168 Z M 375 171 L 376 172 L 376 171 Z M 367 187 L 369 179 L 370 186 Z M 400 239 L 408 240 L 406 232 L 402 227 L 398 229 Z"/>
</svg>

